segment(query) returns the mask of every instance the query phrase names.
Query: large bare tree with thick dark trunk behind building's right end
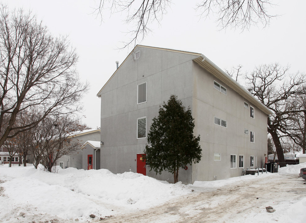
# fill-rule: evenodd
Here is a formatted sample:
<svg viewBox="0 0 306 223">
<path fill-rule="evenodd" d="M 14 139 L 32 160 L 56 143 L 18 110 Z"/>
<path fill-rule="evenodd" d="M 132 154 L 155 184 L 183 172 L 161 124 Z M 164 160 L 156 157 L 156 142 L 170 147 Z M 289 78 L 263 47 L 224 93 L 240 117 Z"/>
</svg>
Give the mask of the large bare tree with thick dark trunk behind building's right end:
<svg viewBox="0 0 306 223">
<path fill-rule="evenodd" d="M 289 67 L 279 64 L 261 65 L 246 74 L 251 93 L 274 112 L 268 117 L 268 133 L 273 138 L 281 167 L 286 166 L 280 138 L 290 135 L 288 117 L 299 112 L 289 106 L 291 99 L 304 94 L 304 74 L 288 73 Z"/>
</svg>

